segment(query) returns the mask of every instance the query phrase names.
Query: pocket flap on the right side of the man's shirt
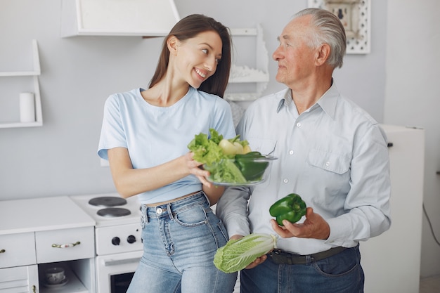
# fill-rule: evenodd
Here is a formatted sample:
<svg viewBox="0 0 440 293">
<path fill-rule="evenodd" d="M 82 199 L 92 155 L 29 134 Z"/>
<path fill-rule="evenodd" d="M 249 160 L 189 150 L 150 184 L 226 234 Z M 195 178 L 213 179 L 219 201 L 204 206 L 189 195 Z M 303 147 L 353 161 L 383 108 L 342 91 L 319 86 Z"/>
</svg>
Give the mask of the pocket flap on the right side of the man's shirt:
<svg viewBox="0 0 440 293">
<path fill-rule="evenodd" d="M 339 175 L 346 173 L 350 168 L 349 157 L 324 150 L 311 149 L 307 159 L 312 166 Z"/>
</svg>

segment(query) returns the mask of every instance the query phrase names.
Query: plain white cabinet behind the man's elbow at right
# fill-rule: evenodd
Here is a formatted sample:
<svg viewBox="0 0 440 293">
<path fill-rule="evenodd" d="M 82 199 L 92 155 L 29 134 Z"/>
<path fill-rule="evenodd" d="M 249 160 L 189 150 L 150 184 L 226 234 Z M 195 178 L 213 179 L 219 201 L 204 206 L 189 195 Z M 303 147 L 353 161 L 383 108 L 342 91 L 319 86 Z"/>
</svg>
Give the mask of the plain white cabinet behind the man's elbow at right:
<svg viewBox="0 0 440 293">
<path fill-rule="evenodd" d="M 391 228 L 361 242 L 365 293 L 419 292 L 425 131 L 383 125 L 392 181 Z"/>
</svg>

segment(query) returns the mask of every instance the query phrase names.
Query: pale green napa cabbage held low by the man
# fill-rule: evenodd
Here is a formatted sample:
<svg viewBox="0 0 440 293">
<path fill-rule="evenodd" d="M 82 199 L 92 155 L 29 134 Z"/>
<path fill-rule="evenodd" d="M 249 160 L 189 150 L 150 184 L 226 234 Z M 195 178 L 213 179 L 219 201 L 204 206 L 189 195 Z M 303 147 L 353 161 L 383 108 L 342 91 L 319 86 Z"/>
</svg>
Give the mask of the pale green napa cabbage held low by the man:
<svg viewBox="0 0 440 293">
<path fill-rule="evenodd" d="M 233 273 L 247 267 L 260 256 L 276 247 L 277 237 L 264 233 L 252 233 L 238 240 L 229 240 L 217 249 L 214 265 L 224 273 Z"/>
</svg>

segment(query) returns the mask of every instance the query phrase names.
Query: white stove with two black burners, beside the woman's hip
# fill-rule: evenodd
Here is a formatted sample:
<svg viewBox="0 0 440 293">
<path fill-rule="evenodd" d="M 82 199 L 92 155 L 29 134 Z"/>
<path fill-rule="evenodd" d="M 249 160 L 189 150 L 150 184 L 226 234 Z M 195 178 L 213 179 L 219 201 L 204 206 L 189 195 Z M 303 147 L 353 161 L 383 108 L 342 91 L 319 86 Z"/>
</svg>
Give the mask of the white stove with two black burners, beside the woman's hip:
<svg viewBox="0 0 440 293">
<path fill-rule="evenodd" d="M 117 193 L 70 199 L 96 222 L 96 292 L 125 293 L 143 253 L 141 204 Z"/>
</svg>

